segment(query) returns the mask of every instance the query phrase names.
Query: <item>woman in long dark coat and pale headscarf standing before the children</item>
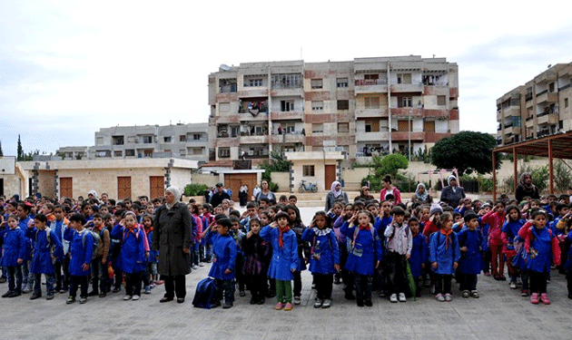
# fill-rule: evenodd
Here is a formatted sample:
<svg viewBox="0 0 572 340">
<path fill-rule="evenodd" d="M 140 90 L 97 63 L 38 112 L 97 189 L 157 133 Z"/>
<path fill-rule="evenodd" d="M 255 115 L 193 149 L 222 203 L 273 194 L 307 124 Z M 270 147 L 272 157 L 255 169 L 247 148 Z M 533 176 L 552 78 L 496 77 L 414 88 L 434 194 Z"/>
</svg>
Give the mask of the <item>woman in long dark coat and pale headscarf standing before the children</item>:
<svg viewBox="0 0 572 340">
<path fill-rule="evenodd" d="M 183 303 L 186 296 L 185 275 L 191 273 L 192 216 L 180 202 L 181 191 L 175 187 L 165 190 L 165 204 L 157 209 L 153 220 L 152 248 L 159 251 L 157 272 L 165 284 L 160 302 Z"/>
</svg>

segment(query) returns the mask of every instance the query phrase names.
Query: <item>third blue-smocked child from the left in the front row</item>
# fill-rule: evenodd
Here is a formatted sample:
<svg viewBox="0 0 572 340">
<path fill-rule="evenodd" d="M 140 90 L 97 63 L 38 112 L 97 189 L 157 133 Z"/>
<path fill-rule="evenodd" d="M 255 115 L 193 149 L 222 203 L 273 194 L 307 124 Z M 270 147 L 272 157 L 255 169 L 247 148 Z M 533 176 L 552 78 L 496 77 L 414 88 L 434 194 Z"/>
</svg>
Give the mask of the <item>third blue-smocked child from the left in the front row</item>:
<svg viewBox="0 0 572 340">
<path fill-rule="evenodd" d="M 70 223 L 65 228 L 64 239 L 70 244 L 70 295 L 66 304 L 75 302 L 77 288 L 80 287 L 80 304 L 87 302 L 87 287 L 91 274 L 91 263 L 94 255 L 94 238 L 92 233 L 84 228 L 85 219 L 82 214 L 70 217 Z"/>
</svg>

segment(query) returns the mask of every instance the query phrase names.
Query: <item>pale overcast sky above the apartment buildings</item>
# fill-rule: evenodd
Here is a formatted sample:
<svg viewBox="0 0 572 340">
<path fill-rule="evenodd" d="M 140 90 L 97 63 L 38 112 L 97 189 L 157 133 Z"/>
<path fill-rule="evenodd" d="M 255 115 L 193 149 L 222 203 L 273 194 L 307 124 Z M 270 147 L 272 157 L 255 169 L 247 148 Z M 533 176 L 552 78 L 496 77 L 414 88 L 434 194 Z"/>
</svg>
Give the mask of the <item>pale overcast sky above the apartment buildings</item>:
<svg viewBox="0 0 572 340">
<path fill-rule="evenodd" d="M 459 64 L 460 129 L 572 62 L 565 1 L 2 1 L 0 141 L 15 155 L 94 145 L 115 125 L 208 121 L 222 63 L 416 54 Z M 565 5 L 568 4 L 568 5 Z"/>
</svg>

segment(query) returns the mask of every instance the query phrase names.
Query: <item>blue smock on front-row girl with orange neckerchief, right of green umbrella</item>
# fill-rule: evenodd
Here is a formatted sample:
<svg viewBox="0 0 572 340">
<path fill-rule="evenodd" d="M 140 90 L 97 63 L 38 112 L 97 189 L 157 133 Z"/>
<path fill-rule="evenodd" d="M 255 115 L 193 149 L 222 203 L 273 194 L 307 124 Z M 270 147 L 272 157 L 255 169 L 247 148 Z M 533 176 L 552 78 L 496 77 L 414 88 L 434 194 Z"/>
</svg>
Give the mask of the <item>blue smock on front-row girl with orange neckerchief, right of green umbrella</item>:
<svg viewBox="0 0 572 340">
<path fill-rule="evenodd" d="M 436 231 L 429 236 L 429 262 L 437 262 L 437 269 L 433 271 L 442 275 L 453 275 L 454 262 L 459 262 L 460 250 L 457 235 L 451 232 L 449 242 L 447 237 Z M 432 267 L 432 266 L 431 266 Z"/>
</svg>

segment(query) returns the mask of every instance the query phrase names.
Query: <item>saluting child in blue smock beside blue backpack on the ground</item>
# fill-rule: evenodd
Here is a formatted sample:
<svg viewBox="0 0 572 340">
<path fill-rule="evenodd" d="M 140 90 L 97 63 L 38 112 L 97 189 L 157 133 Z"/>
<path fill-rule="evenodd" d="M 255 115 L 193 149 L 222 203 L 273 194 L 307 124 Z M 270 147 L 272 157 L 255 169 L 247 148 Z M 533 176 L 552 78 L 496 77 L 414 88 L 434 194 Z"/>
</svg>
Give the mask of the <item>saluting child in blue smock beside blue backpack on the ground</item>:
<svg viewBox="0 0 572 340">
<path fill-rule="evenodd" d="M 222 308 L 232 307 L 234 302 L 234 280 L 236 265 L 236 242 L 229 234 L 232 228 L 231 219 L 217 219 L 212 227 L 203 231 L 208 242 L 212 242 L 212 266 L 209 277 L 214 278 L 216 286 L 216 301 L 219 302 L 224 295 Z M 219 303 L 220 304 L 220 303 Z M 215 306 L 219 306 L 219 304 Z"/>
</svg>

